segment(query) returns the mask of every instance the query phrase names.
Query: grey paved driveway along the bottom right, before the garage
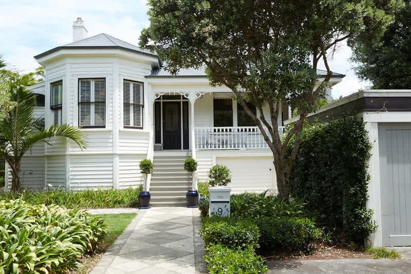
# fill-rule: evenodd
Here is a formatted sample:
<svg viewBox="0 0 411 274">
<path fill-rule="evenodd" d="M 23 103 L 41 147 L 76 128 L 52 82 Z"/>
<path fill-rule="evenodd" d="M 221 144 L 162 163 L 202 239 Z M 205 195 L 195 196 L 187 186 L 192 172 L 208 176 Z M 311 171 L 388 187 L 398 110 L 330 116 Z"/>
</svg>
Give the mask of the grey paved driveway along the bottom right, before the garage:
<svg viewBox="0 0 411 274">
<path fill-rule="evenodd" d="M 404 258 L 271 261 L 267 263 L 268 273 L 411 273 L 411 247 L 393 249 Z"/>
</svg>

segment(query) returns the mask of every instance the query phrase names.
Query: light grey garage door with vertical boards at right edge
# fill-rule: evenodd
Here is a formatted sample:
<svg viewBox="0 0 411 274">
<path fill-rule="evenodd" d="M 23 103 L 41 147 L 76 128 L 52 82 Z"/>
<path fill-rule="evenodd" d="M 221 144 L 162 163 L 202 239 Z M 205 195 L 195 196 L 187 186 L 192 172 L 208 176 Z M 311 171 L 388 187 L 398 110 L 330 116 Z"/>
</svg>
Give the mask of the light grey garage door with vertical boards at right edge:
<svg viewBox="0 0 411 274">
<path fill-rule="evenodd" d="M 383 245 L 411 245 L 411 124 L 378 125 Z"/>
</svg>

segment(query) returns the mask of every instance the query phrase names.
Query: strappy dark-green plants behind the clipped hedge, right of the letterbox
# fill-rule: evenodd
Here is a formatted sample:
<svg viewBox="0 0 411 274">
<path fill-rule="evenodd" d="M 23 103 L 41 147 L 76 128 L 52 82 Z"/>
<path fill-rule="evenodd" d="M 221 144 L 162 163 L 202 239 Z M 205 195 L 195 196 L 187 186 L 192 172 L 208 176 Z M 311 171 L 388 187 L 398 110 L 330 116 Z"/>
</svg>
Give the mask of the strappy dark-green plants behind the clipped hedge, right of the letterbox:
<svg viewBox="0 0 411 274">
<path fill-rule="evenodd" d="M 267 191 L 256 193 L 233 194 L 230 197 L 230 211 L 232 217 L 304 217 L 309 215 L 305 211 L 305 204 L 295 198 L 279 199 L 274 195 L 267 195 Z"/>
</svg>

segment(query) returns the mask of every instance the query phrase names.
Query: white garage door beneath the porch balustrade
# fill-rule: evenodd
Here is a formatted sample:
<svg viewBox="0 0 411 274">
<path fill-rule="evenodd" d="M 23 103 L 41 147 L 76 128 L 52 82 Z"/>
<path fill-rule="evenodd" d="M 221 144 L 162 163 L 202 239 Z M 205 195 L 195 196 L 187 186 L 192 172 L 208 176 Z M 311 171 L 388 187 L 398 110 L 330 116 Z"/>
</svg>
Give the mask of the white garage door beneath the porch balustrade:
<svg viewBox="0 0 411 274">
<path fill-rule="evenodd" d="M 275 173 L 272 157 L 217 157 L 218 165 L 227 166 L 232 172 L 229 187 L 231 193 L 263 192 L 275 189 Z"/>
</svg>

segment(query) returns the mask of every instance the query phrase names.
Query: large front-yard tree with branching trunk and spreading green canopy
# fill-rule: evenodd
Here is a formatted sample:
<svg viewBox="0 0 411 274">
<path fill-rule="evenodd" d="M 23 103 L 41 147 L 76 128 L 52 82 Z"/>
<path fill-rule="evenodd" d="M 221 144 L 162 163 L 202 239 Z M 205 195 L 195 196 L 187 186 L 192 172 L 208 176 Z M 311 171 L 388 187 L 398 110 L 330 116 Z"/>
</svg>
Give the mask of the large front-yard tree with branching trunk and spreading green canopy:
<svg viewBox="0 0 411 274">
<path fill-rule="evenodd" d="M 331 78 L 327 52 L 346 39 L 375 41 L 400 4 L 399 0 L 149 0 L 150 27 L 142 31 L 140 46 L 157 52 L 173 73 L 205 64 L 211 84 L 233 91 L 273 152 L 279 196 L 287 197 L 304 119 L 319 106 Z M 327 69 L 322 83 L 317 82 L 319 63 Z M 259 109 L 258 117 L 247 101 Z M 284 138 L 277 130 L 283 102 L 300 112 Z M 269 106 L 269 121 L 263 105 Z M 285 159 L 291 138 L 294 147 Z"/>
</svg>

